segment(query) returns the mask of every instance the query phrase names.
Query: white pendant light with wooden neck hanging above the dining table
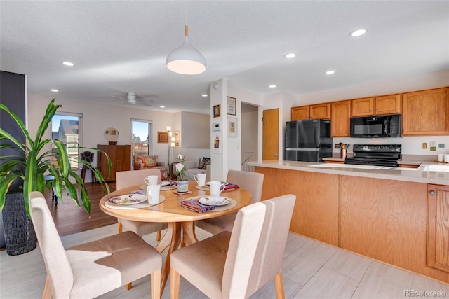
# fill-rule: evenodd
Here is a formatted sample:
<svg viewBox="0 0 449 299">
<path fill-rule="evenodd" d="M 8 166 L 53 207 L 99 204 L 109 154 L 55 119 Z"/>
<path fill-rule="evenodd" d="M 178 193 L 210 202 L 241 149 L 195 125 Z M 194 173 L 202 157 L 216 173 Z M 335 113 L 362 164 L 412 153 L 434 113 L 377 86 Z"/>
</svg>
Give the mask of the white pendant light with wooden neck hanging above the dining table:
<svg viewBox="0 0 449 299">
<path fill-rule="evenodd" d="M 183 75 L 196 75 L 206 71 L 206 59 L 189 43 L 187 10 L 184 43 L 168 54 L 167 67 L 170 71 Z"/>
</svg>

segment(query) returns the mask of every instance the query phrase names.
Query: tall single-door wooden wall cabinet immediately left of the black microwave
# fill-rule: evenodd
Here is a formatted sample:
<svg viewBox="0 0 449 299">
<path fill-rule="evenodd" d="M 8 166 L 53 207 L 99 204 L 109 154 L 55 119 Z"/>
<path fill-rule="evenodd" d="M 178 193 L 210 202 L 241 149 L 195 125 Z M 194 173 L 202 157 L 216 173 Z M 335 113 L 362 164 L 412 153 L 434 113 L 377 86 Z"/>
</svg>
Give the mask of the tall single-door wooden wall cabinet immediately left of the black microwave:
<svg viewBox="0 0 449 299">
<path fill-rule="evenodd" d="M 349 137 L 351 101 L 330 103 L 330 134 L 332 137 Z"/>
</svg>

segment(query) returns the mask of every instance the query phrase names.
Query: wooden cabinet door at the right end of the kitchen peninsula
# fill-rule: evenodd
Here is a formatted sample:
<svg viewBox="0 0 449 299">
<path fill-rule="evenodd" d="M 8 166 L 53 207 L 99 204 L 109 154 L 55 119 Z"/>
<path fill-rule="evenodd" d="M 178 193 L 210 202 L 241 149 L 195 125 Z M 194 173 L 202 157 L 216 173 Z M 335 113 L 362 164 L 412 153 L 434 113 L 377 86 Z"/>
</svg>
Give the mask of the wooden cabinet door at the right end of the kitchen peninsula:
<svg viewBox="0 0 449 299">
<path fill-rule="evenodd" d="M 428 185 L 427 266 L 449 272 L 449 186 Z"/>
</svg>

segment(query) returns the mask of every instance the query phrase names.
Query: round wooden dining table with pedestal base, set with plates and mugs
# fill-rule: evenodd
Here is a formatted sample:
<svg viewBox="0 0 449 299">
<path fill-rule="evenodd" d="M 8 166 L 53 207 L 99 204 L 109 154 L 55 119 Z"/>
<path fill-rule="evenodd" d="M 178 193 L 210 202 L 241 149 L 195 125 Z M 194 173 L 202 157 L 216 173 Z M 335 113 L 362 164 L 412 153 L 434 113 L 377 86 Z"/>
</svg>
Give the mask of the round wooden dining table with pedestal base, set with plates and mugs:
<svg viewBox="0 0 449 299">
<path fill-rule="evenodd" d="M 233 213 L 248 205 L 251 200 L 251 195 L 247 190 L 243 188 L 236 188 L 232 190 L 225 190 L 220 194 L 220 196 L 235 200 L 235 207 L 225 210 L 207 211 L 205 213 L 190 211 L 181 206 L 182 200 L 187 200 L 190 197 L 201 195 L 210 195 L 210 192 L 207 190 L 197 189 L 196 182 L 189 181 L 189 191 L 191 191 L 191 193 L 178 195 L 174 193 L 176 189 L 161 190 L 161 195 L 165 197 L 165 200 L 151 207 L 144 207 L 140 209 L 112 209 L 111 207 L 107 207 L 105 204 L 109 196 L 126 195 L 135 190 L 139 190 L 139 186 L 123 188 L 105 195 L 100 200 L 100 209 L 105 212 L 105 214 L 117 218 L 142 222 L 168 223 L 166 234 L 156 246 L 156 250 L 159 252 L 164 251 L 168 247 L 167 257 L 165 263 L 163 264 L 161 273 L 161 295 L 166 286 L 168 274 L 170 274 L 170 255 L 180 246 L 181 236 L 182 242 L 185 245 L 198 242 L 198 239 L 196 239 L 195 236 L 194 221 L 220 217 Z"/>
</svg>

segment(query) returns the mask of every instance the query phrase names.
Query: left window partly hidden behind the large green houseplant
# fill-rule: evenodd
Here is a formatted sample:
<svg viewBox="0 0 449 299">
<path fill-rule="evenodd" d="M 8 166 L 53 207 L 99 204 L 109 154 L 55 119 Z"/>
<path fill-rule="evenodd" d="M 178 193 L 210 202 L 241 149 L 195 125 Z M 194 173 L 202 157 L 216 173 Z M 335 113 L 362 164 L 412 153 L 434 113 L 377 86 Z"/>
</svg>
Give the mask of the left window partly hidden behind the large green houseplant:
<svg viewBox="0 0 449 299">
<path fill-rule="evenodd" d="M 51 140 L 59 139 L 67 146 L 67 153 L 73 170 L 79 168 L 78 146 L 81 146 L 82 116 L 82 114 L 77 113 L 59 113 L 51 119 Z"/>
</svg>

